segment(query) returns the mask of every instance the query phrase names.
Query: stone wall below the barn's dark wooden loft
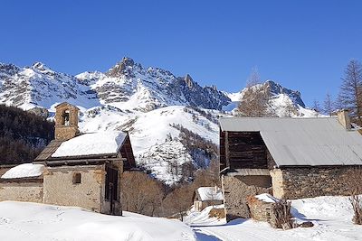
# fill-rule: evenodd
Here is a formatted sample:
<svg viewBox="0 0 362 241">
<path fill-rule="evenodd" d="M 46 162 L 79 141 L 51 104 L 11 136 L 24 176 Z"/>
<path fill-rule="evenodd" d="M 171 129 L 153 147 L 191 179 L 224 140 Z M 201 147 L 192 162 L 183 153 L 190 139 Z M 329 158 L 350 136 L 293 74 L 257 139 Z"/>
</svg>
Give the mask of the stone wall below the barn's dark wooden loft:
<svg viewBox="0 0 362 241">
<path fill-rule="evenodd" d="M 271 189 L 250 186 L 242 181 L 242 177 L 223 176 L 224 205 L 226 218 L 250 218 L 247 198 L 261 193 L 270 193 Z"/>
</svg>

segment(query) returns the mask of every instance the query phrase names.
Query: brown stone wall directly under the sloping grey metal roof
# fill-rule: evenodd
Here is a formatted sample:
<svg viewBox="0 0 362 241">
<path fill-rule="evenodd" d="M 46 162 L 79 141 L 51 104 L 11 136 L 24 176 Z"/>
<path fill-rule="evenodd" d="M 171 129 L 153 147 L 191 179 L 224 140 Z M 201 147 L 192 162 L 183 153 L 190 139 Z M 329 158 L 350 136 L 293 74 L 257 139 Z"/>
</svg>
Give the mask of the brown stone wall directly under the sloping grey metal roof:
<svg viewBox="0 0 362 241">
<path fill-rule="evenodd" d="M 352 177 L 355 183 L 362 183 L 362 175 L 349 166 L 274 169 L 271 171 L 273 196 L 278 199 L 348 196 L 355 188 L 350 181 Z"/>
</svg>

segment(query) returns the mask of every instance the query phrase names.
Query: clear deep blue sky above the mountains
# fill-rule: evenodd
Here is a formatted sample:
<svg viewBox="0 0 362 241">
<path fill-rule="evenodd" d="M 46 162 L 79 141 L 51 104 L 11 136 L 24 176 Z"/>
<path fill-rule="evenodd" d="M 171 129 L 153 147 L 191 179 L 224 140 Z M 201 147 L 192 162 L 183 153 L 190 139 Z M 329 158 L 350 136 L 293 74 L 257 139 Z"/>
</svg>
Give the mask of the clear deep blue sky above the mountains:
<svg viewBox="0 0 362 241">
<path fill-rule="evenodd" d="M 77 74 L 123 56 L 238 91 L 253 66 L 307 105 L 362 60 L 362 1 L 16 1 L 0 6 L 0 61 Z"/>
</svg>

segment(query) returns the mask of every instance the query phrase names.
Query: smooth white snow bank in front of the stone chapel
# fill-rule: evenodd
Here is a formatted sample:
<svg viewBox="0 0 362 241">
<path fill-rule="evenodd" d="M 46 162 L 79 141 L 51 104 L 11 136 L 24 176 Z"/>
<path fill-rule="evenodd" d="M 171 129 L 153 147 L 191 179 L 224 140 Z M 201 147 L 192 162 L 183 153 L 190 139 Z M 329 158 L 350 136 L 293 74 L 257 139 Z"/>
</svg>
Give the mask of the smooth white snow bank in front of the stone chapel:
<svg viewBox="0 0 362 241">
<path fill-rule="evenodd" d="M 124 212 L 124 217 L 30 202 L 0 202 L 2 241 L 195 240 L 186 224 Z"/>
</svg>

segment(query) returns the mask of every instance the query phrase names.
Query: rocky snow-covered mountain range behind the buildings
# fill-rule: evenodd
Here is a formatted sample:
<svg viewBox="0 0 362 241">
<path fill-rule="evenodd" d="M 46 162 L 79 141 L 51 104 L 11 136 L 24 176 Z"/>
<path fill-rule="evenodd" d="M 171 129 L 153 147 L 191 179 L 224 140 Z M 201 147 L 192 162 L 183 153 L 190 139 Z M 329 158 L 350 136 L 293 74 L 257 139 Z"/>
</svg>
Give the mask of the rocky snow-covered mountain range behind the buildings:
<svg viewBox="0 0 362 241">
<path fill-rule="evenodd" d="M 293 116 L 312 115 L 298 91 L 272 81 L 258 88 L 271 93 L 271 107 L 279 116 L 288 106 L 285 103 L 295 107 Z M 214 86 L 201 87 L 188 74 L 176 77 L 167 70 L 145 69 L 129 58 L 105 73 L 77 76 L 40 62 L 24 68 L 0 63 L 0 104 L 26 110 L 43 107 L 51 114 L 63 101 L 76 105 L 81 109 L 82 132 L 129 131 L 138 164 L 168 183 L 182 177 L 184 163 L 207 166 L 212 155 L 204 147 L 190 149 L 193 140 L 187 138 L 217 145 L 217 117 L 232 115 L 224 110 L 232 110 L 243 91 L 228 94 Z"/>
</svg>

